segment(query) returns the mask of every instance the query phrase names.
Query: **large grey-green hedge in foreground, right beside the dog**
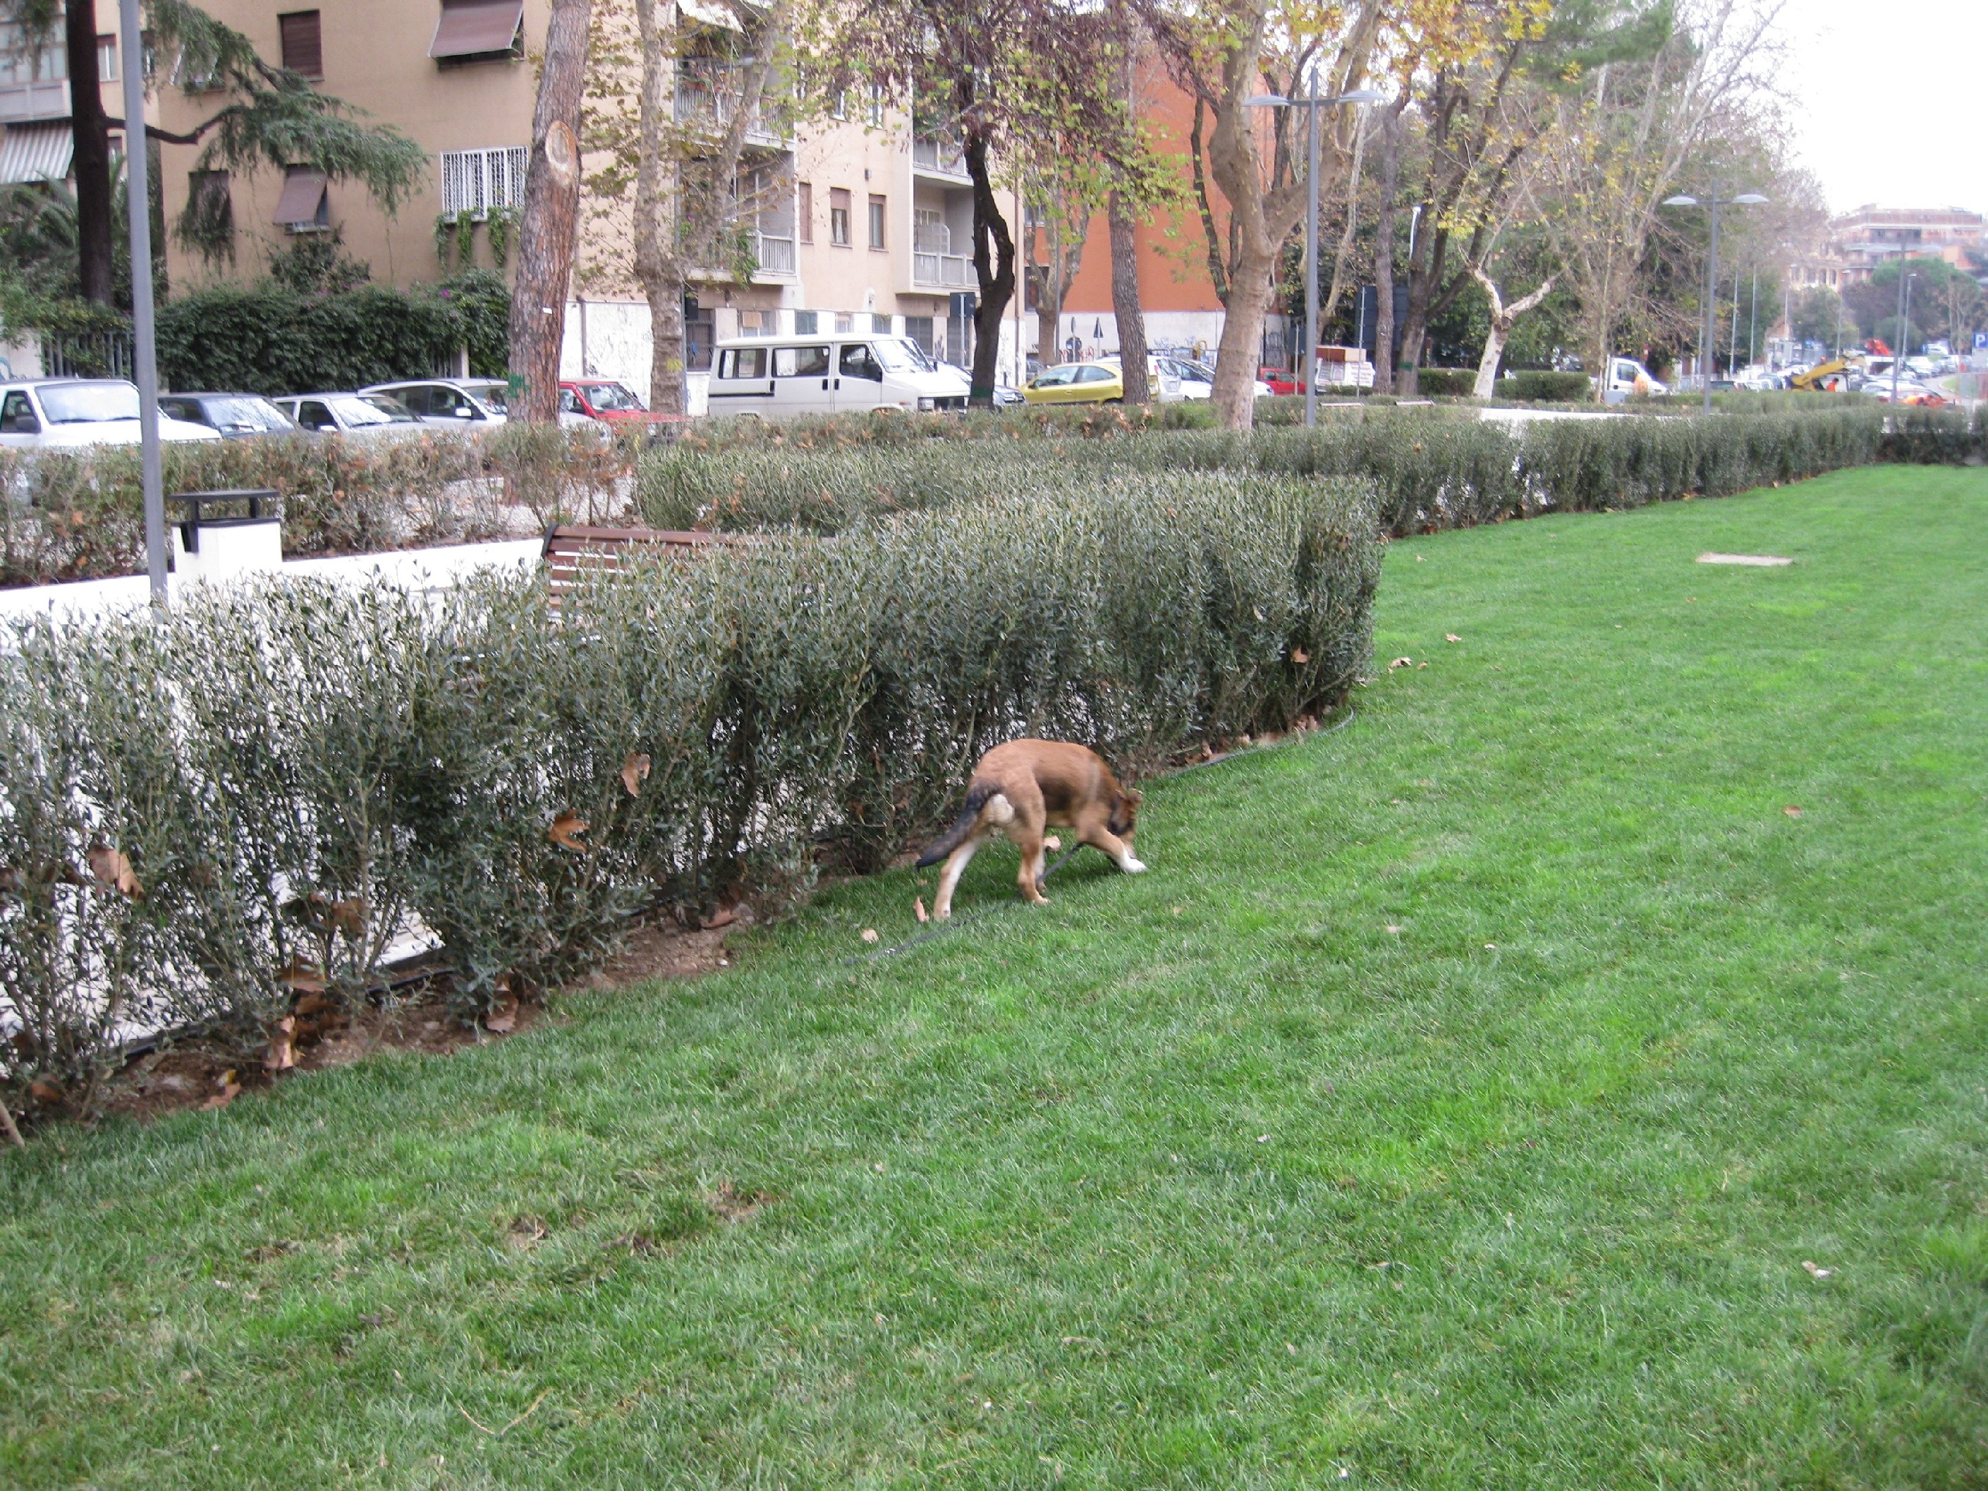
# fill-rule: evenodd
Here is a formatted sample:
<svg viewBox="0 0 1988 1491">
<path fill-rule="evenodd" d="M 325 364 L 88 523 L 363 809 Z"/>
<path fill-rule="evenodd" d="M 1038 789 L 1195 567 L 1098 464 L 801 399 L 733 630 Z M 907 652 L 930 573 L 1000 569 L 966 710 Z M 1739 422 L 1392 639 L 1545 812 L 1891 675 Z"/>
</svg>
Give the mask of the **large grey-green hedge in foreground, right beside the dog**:
<svg viewBox="0 0 1988 1491">
<path fill-rule="evenodd" d="M 465 1018 L 630 912 L 889 861 L 988 746 L 1137 773 L 1338 702 L 1380 571 L 1360 483 L 1131 475 L 773 535 L 569 594 L 316 584 L 0 648 L 0 1089 L 78 1105 L 121 1032 L 254 1050 L 429 928 Z"/>
</svg>

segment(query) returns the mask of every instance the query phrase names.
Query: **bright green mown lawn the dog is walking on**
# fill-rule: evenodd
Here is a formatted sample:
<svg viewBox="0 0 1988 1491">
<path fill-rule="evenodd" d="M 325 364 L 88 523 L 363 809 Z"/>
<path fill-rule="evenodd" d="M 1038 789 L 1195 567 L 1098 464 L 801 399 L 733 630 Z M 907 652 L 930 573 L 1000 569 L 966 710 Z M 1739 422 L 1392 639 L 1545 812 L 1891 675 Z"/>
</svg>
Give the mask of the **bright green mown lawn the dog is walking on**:
<svg viewBox="0 0 1988 1491">
<path fill-rule="evenodd" d="M 1988 1485 L 1984 628 L 1982 471 L 1398 543 L 1149 875 L 0 1157 L 0 1483 Z"/>
</svg>

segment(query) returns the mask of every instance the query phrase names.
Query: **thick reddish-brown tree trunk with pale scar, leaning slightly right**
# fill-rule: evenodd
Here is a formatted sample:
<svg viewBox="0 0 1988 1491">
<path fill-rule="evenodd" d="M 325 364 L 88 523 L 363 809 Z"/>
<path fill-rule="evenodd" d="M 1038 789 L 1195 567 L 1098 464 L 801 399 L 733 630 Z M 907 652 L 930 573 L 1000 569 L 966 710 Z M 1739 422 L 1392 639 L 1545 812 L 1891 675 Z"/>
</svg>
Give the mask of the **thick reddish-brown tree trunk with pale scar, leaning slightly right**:
<svg viewBox="0 0 1988 1491">
<path fill-rule="evenodd" d="M 531 115 L 531 165 L 517 231 L 511 290 L 511 372 L 525 390 L 511 417 L 559 419 L 559 348 L 567 334 L 567 286 L 580 211 L 580 93 L 586 85 L 586 22 L 592 0 L 553 0 Z"/>
</svg>

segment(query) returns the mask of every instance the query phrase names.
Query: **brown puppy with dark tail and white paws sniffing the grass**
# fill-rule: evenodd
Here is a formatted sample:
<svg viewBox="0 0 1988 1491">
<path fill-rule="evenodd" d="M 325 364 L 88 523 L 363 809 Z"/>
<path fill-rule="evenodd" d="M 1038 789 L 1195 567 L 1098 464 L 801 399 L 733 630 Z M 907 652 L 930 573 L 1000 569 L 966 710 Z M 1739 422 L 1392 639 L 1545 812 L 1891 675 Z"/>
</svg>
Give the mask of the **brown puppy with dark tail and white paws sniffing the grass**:
<svg viewBox="0 0 1988 1491">
<path fill-rule="evenodd" d="M 996 829 L 1022 849 L 1016 883 L 1038 907 L 1048 903 L 1042 895 L 1042 831 L 1052 823 L 1076 829 L 1079 843 L 1101 849 L 1121 871 L 1137 875 L 1145 869 L 1131 857 L 1137 807 L 1139 793 L 1119 787 L 1097 751 L 1066 740 L 1010 740 L 996 746 L 974 767 L 958 821 L 918 859 L 920 869 L 946 861 L 938 875 L 938 895 L 932 897 L 932 914 L 938 920 L 952 914 L 952 887 L 960 883 L 966 861 Z"/>
</svg>

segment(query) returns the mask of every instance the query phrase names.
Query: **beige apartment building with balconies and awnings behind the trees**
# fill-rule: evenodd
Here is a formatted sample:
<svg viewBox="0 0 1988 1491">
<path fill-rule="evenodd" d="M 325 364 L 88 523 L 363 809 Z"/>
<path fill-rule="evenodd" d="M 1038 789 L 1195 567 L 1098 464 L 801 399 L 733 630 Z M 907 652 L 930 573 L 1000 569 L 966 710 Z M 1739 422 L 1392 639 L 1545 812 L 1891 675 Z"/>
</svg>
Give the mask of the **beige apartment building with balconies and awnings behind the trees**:
<svg viewBox="0 0 1988 1491">
<path fill-rule="evenodd" d="M 264 58 L 282 62 L 376 121 L 392 123 L 429 155 L 427 181 L 388 217 L 354 183 L 330 183 L 306 167 L 213 177 L 193 169 L 197 149 L 165 145 L 167 221 L 189 195 L 233 221 L 233 258 L 205 258 L 173 239 L 175 288 L 217 278 L 254 278 L 272 252 L 300 237 L 338 233 L 344 252 L 392 284 L 437 280 L 447 268 L 435 247 L 437 219 L 469 213 L 479 223 L 475 262 L 491 264 L 489 217 L 515 211 L 543 50 L 547 0 L 207 0 Z M 684 0 L 694 24 L 722 28 Z M 678 117 L 734 107 L 728 66 L 688 58 L 676 91 Z M 213 95 L 169 85 L 157 101 L 167 129 L 207 117 Z M 747 137 L 742 191 L 759 205 L 757 262 L 749 282 L 700 276 L 686 298 L 692 366 L 710 366 L 716 338 L 891 330 L 954 362 L 966 356 L 974 290 L 970 262 L 972 183 L 958 153 L 914 139 L 907 121 L 869 99 L 849 99 L 797 137 L 757 129 Z M 648 392 L 648 306 L 628 270 L 626 231 L 614 213 L 582 209 L 582 241 L 567 306 L 565 376 L 620 378 Z M 1020 211 L 1014 221 L 1020 225 Z M 1022 344 L 1020 296 L 1002 332 L 1002 374 L 1016 380 Z"/>
</svg>

